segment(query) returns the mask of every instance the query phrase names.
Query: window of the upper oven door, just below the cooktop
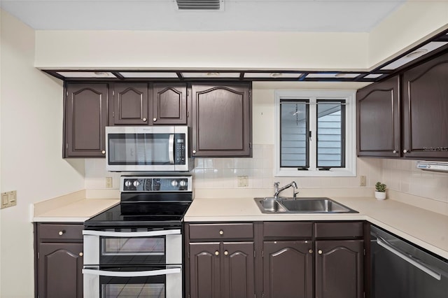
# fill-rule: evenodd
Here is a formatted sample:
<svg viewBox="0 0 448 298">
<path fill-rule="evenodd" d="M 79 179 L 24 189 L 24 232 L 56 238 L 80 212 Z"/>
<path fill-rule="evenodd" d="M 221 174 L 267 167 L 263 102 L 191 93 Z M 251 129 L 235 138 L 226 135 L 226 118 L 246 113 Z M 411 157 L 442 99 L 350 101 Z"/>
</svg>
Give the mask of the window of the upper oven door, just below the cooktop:
<svg viewBox="0 0 448 298">
<path fill-rule="evenodd" d="M 165 237 L 102 237 L 100 264 L 166 264 Z"/>
</svg>

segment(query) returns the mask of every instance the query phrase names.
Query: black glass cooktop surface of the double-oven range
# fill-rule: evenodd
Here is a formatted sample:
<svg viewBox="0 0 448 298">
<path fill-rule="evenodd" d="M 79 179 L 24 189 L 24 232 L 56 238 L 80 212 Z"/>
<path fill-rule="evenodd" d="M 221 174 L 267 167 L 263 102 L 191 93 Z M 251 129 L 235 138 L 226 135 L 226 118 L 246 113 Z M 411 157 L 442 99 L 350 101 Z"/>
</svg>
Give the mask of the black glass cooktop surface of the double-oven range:
<svg viewBox="0 0 448 298">
<path fill-rule="evenodd" d="M 190 201 L 120 203 L 84 222 L 85 228 L 181 227 Z"/>
</svg>

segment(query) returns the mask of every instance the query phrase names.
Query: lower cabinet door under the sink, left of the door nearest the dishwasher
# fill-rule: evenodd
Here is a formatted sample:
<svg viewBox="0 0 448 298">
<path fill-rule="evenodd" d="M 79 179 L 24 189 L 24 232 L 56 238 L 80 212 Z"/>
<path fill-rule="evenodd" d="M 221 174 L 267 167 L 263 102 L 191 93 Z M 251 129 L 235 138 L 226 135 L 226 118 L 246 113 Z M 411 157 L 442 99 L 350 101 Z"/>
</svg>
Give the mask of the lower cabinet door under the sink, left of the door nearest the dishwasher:
<svg viewBox="0 0 448 298">
<path fill-rule="evenodd" d="M 311 241 L 263 243 L 264 297 L 313 297 L 312 247 Z"/>
</svg>

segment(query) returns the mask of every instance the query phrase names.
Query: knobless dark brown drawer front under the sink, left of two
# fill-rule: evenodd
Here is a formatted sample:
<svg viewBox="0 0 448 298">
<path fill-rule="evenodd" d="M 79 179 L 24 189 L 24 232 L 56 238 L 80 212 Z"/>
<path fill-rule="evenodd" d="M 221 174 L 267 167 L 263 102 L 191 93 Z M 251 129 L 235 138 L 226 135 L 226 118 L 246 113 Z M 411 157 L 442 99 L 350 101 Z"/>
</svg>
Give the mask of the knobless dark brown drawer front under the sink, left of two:
<svg viewBox="0 0 448 298">
<path fill-rule="evenodd" d="M 263 236 L 311 238 L 313 236 L 312 222 L 265 222 Z"/>
</svg>

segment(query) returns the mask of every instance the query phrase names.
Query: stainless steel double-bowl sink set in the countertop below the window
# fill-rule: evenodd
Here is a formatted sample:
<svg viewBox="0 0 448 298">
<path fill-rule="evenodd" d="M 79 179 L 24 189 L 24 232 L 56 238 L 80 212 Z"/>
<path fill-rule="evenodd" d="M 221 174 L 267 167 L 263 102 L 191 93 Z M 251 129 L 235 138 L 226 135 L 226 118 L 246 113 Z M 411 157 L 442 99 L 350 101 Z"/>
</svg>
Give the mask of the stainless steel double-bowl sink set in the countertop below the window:
<svg viewBox="0 0 448 298">
<path fill-rule="evenodd" d="M 262 213 L 358 213 L 326 197 L 255 198 Z"/>
</svg>

